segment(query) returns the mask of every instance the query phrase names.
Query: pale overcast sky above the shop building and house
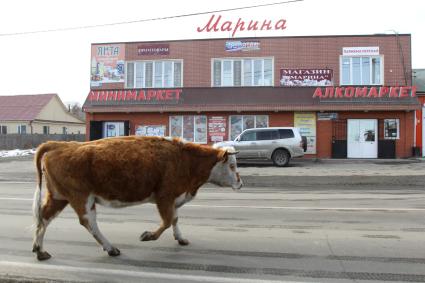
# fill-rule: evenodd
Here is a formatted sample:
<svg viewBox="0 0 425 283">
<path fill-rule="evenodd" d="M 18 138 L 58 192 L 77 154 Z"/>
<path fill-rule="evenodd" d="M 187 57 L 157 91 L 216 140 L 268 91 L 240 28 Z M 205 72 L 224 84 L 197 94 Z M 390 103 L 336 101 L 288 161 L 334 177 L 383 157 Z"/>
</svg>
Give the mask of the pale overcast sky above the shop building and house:
<svg viewBox="0 0 425 283">
<path fill-rule="evenodd" d="M 90 44 L 96 42 L 226 38 L 227 32 L 199 33 L 211 15 L 70 31 L 10 35 L 27 31 L 80 27 L 167 17 L 279 2 L 279 0 L 137 1 L 14 0 L 0 10 L 0 95 L 57 93 L 82 104 L 90 90 Z M 286 30 L 238 32 L 236 37 L 337 34 L 412 34 L 413 68 L 425 68 L 425 1 L 304 0 L 271 7 L 221 12 L 238 18 L 277 22 Z"/>
</svg>

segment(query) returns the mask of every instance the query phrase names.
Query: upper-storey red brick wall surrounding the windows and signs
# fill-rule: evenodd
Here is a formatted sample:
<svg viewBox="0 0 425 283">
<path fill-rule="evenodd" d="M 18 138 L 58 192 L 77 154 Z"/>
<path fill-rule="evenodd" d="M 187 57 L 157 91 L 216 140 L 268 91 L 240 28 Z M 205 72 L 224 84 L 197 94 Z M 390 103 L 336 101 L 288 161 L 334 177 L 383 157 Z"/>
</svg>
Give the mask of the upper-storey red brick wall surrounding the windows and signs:
<svg viewBox="0 0 425 283">
<path fill-rule="evenodd" d="M 334 83 L 339 85 L 339 59 L 343 47 L 379 46 L 384 56 L 384 83 L 405 85 L 401 57 L 394 35 L 388 36 L 318 36 L 253 38 L 260 41 L 260 50 L 226 52 L 228 39 L 165 41 L 169 55 L 139 56 L 137 46 L 143 42 L 126 44 L 126 61 L 131 60 L 183 60 L 183 87 L 211 86 L 211 59 L 230 57 L 274 57 L 274 85 L 279 86 L 281 68 L 330 68 Z M 411 84 L 411 37 L 401 35 L 407 84 Z M 104 84 L 102 88 L 121 88 L 124 84 Z"/>
</svg>

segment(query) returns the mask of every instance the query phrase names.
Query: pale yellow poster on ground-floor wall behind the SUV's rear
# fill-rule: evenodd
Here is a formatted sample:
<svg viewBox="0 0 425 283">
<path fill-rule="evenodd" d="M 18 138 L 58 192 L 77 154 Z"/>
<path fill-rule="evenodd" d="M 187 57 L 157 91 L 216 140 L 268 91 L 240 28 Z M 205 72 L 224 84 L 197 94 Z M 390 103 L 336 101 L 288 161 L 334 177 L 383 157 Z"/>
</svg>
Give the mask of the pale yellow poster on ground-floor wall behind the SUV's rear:
<svg viewBox="0 0 425 283">
<path fill-rule="evenodd" d="M 294 127 L 300 130 L 302 136 L 307 137 L 306 154 L 316 154 L 316 113 L 295 112 Z"/>
</svg>

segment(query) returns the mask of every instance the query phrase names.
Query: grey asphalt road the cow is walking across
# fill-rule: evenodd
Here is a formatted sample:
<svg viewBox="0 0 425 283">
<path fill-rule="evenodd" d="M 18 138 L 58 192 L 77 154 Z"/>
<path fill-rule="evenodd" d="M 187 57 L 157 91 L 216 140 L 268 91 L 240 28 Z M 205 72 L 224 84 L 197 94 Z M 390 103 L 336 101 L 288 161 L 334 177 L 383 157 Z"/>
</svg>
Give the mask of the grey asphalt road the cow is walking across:
<svg viewBox="0 0 425 283">
<path fill-rule="evenodd" d="M 31 253 L 31 170 L 28 161 L 0 162 L 0 281 L 425 282 L 418 185 L 340 188 L 338 176 L 327 177 L 333 186 L 311 185 L 307 176 L 296 187 L 239 193 L 206 186 L 179 211 L 187 247 L 171 229 L 158 241 L 139 241 L 159 224 L 153 205 L 100 207 L 100 229 L 122 252 L 116 258 L 66 208 L 47 230 L 53 258 L 40 263 Z"/>
</svg>

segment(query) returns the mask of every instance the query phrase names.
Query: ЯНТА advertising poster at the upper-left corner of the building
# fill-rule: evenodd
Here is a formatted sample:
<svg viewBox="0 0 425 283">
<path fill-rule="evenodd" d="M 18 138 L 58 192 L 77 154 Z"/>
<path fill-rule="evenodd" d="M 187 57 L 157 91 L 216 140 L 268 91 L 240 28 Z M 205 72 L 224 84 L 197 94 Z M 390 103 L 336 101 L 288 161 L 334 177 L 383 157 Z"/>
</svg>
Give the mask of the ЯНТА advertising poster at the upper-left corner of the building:
<svg viewBox="0 0 425 283">
<path fill-rule="evenodd" d="M 92 45 L 90 85 L 124 82 L 124 44 Z"/>
</svg>

